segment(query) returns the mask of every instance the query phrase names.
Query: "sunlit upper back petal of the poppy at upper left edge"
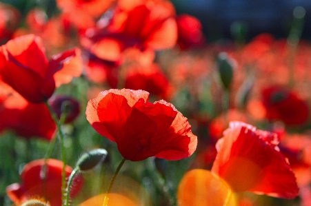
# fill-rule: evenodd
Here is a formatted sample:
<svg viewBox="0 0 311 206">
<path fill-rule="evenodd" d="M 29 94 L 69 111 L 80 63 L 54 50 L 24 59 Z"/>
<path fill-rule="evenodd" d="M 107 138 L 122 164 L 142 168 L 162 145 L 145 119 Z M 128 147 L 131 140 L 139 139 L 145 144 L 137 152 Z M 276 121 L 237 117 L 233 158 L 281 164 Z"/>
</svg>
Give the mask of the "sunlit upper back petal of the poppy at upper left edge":
<svg viewBox="0 0 311 206">
<path fill-rule="evenodd" d="M 9 56 L 8 61 L 32 70 L 39 74 L 41 79 L 46 78 L 48 59 L 40 37 L 34 36 L 34 34 L 17 37 L 8 41 L 3 48 L 13 57 Z"/>
</svg>

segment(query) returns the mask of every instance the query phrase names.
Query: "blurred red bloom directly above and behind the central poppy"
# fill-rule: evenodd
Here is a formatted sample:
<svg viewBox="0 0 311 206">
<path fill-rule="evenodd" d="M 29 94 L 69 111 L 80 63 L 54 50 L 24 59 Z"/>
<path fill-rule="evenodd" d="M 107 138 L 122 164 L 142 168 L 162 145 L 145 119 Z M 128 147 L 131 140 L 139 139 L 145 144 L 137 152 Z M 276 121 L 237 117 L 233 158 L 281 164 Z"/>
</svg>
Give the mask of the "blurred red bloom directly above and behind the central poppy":
<svg viewBox="0 0 311 206">
<path fill-rule="evenodd" d="M 91 56 L 86 75 L 95 83 L 108 83 L 111 88 L 125 87 L 132 90 L 146 90 L 151 94 L 169 99 L 174 88 L 157 63 L 153 63 L 154 52 L 128 49 L 124 52 L 123 63 L 103 61 Z"/>
</svg>

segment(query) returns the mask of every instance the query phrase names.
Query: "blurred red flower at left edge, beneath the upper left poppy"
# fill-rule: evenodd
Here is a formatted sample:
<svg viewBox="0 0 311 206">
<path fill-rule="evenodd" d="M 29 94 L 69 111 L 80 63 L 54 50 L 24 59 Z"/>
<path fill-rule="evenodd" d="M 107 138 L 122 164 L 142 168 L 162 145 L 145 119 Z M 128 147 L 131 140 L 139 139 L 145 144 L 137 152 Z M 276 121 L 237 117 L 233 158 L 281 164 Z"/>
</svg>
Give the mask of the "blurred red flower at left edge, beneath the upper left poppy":
<svg viewBox="0 0 311 206">
<path fill-rule="evenodd" d="M 1 81 L 0 91 L 0 132 L 12 130 L 25 138 L 52 138 L 56 126 L 44 103 L 29 103 Z"/>
</svg>

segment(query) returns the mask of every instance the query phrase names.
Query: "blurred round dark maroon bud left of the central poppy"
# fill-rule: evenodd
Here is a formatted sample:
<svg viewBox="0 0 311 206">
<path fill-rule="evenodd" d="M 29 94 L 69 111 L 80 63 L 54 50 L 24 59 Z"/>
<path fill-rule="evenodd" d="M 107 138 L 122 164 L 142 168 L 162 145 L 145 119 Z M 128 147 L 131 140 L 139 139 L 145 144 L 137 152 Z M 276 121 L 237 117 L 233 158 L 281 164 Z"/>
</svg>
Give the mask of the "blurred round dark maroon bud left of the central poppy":
<svg viewBox="0 0 311 206">
<path fill-rule="evenodd" d="M 66 114 L 65 123 L 74 121 L 79 115 L 79 101 L 70 96 L 55 96 L 49 100 L 49 103 L 59 119 L 61 119 L 61 114 Z"/>
</svg>

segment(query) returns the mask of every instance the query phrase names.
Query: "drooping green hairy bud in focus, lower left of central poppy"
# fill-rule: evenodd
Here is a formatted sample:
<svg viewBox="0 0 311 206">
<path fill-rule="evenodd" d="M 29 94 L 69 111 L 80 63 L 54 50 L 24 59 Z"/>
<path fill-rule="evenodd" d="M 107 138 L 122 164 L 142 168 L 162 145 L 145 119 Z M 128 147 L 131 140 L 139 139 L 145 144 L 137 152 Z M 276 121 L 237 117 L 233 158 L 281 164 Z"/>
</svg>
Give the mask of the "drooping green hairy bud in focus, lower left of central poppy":
<svg viewBox="0 0 311 206">
<path fill-rule="evenodd" d="M 80 171 L 88 171 L 103 161 L 106 156 L 107 151 L 104 149 L 96 149 L 86 152 L 79 158 L 77 167 L 79 167 Z"/>
</svg>

